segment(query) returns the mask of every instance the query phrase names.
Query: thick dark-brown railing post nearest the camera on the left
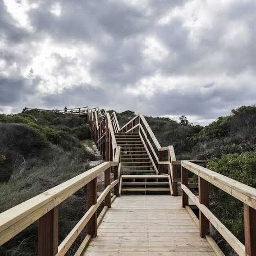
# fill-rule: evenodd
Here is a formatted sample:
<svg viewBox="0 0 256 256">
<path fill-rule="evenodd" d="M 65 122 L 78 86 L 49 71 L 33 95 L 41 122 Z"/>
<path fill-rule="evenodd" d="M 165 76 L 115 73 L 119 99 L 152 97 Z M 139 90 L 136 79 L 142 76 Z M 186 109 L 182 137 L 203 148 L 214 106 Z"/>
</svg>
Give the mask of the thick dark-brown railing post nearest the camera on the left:
<svg viewBox="0 0 256 256">
<path fill-rule="evenodd" d="M 59 211 L 54 207 L 39 219 L 38 225 L 38 255 L 53 256 L 58 252 L 59 245 Z"/>
</svg>

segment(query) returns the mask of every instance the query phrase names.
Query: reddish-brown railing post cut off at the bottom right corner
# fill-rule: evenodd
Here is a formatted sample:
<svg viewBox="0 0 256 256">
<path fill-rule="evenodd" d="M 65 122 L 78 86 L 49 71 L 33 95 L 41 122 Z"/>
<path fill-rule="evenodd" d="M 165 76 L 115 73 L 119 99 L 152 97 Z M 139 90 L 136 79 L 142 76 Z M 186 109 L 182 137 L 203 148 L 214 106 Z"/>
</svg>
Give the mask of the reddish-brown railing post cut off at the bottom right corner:
<svg viewBox="0 0 256 256">
<path fill-rule="evenodd" d="M 256 210 L 244 204 L 244 241 L 245 252 L 249 256 L 256 255 Z"/>
</svg>

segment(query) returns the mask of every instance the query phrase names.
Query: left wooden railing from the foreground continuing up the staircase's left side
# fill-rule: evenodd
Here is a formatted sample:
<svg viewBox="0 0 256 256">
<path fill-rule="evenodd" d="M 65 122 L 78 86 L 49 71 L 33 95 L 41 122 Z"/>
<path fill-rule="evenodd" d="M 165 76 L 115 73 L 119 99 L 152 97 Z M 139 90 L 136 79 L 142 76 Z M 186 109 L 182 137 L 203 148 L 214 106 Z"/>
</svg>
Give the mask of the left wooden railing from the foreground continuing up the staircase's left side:
<svg viewBox="0 0 256 256">
<path fill-rule="evenodd" d="M 80 255 L 90 238 L 97 235 L 97 226 L 104 212 L 111 207 L 111 190 L 114 189 L 114 195 L 119 196 L 120 147 L 117 147 L 116 144 L 109 113 L 105 111 L 102 113 L 99 108 L 88 109 L 87 113 L 94 136 L 99 137 L 100 131 L 105 134 L 105 145 L 104 148 L 102 147 L 101 153 L 105 156 L 107 162 L 1 213 L 0 246 L 37 220 L 39 221 L 39 256 L 65 255 L 86 225 L 87 236 L 75 255 Z M 100 124 L 98 124 L 98 116 L 102 118 Z M 114 171 L 113 182 L 110 179 L 112 168 Z M 103 172 L 105 189 L 97 198 L 97 177 Z M 88 210 L 68 236 L 58 245 L 58 206 L 85 185 L 87 185 Z M 103 213 L 97 219 L 96 211 L 103 201 L 105 207 L 102 210 Z"/>
</svg>

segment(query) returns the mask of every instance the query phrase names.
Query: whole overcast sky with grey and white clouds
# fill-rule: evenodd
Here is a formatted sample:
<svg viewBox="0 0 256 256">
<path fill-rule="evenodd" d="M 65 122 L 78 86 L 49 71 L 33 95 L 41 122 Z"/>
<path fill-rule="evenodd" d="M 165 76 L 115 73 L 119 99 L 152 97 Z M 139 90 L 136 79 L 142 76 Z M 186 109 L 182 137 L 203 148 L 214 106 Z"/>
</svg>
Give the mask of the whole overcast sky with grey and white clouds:
<svg viewBox="0 0 256 256">
<path fill-rule="evenodd" d="M 0 0 L 0 112 L 207 124 L 256 102 L 255 0 Z"/>
</svg>

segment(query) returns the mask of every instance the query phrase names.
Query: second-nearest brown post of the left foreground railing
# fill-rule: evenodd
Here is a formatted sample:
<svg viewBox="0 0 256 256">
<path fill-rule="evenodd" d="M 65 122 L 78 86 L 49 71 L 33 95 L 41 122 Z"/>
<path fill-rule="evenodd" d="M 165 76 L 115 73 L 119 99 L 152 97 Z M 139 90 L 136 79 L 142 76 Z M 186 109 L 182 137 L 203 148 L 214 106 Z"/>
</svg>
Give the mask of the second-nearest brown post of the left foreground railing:
<svg viewBox="0 0 256 256">
<path fill-rule="evenodd" d="M 97 204 L 97 178 L 87 184 L 87 207 L 88 209 Z M 93 237 L 97 236 L 97 212 L 95 212 L 87 224 L 87 233 Z"/>
</svg>

